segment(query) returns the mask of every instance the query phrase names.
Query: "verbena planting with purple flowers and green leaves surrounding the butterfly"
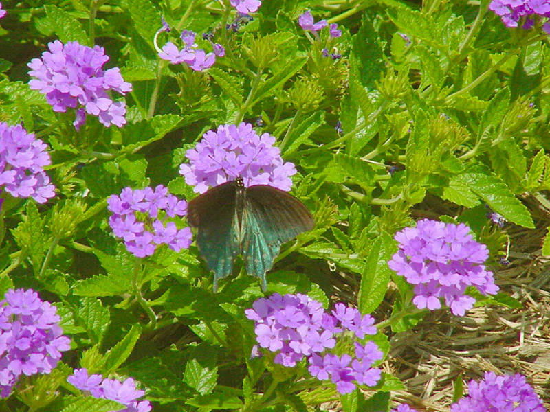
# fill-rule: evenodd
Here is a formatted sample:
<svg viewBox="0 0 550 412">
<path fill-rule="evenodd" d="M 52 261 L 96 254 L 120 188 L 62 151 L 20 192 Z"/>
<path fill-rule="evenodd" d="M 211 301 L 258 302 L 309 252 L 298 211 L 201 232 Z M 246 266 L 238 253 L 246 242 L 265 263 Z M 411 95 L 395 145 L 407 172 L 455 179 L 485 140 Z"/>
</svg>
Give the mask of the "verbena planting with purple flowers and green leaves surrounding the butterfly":
<svg viewBox="0 0 550 412">
<path fill-rule="evenodd" d="M 388 411 L 389 336 L 520 308 L 498 267 L 550 208 L 550 6 L 511 3 L 4 2 L 3 410 Z M 237 176 L 316 222 L 265 293 L 241 258 L 214 293 L 186 224 Z M 544 410 L 519 375 L 469 396 Z"/>
</svg>

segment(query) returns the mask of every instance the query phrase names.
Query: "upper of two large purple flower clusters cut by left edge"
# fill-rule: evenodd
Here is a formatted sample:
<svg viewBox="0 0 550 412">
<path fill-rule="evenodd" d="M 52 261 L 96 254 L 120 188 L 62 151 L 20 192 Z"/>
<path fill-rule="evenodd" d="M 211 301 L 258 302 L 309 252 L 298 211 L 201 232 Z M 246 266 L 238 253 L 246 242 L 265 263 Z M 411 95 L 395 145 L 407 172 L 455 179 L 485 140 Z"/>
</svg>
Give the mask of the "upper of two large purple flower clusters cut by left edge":
<svg viewBox="0 0 550 412">
<path fill-rule="evenodd" d="M 45 203 L 55 187 L 44 167 L 52 164 L 47 146 L 21 126 L 0 122 L 0 187 L 14 197 Z"/>
</svg>

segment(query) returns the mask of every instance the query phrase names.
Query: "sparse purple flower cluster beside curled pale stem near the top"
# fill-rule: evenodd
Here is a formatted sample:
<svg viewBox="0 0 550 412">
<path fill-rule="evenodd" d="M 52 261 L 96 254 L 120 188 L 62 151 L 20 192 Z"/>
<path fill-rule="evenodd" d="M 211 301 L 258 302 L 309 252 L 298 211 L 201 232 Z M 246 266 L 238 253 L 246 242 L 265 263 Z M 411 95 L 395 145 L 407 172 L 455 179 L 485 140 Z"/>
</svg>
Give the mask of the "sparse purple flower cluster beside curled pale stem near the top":
<svg viewBox="0 0 550 412">
<path fill-rule="evenodd" d="M 186 63 L 186 65 L 195 71 L 203 71 L 214 65 L 216 56 L 225 56 L 223 46 L 218 43 L 212 43 L 210 36 L 207 36 L 207 38 L 212 44 L 214 52 L 207 54 L 203 49 L 198 49 L 198 45 L 195 43 L 195 36 L 197 36 L 195 32 L 184 30 L 181 32 L 181 41 L 184 43 L 184 48 L 180 50 L 174 43 L 169 41 L 162 47 L 159 57 L 163 60 L 168 60 L 173 65 Z"/>
</svg>

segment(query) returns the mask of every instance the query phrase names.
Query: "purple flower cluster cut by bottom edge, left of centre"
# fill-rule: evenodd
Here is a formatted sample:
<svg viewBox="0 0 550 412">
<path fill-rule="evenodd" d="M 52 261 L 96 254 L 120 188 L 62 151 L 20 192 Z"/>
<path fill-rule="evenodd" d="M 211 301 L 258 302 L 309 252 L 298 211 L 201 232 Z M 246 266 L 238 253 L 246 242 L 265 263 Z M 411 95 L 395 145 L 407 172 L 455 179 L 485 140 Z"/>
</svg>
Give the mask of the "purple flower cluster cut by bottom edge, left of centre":
<svg viewBox="0 0 550 412">
<path fill-rule="evenodd" d="M 151 402 L 148 400 L 137 401 L 137 398 L 144 396 L 145 391 L 135 389 L 133 378 L 120 382 L 115 379 L 104 379 L 99 374 L 88 375 L 86 369 L 74 369 L 74 373 L 67 378 L 67 382 L 80 391 L 89 393 L 94 398 L 114 400 L 123 404 L 126 409 L 119 412 L 151 411 Z"/>
</svg>

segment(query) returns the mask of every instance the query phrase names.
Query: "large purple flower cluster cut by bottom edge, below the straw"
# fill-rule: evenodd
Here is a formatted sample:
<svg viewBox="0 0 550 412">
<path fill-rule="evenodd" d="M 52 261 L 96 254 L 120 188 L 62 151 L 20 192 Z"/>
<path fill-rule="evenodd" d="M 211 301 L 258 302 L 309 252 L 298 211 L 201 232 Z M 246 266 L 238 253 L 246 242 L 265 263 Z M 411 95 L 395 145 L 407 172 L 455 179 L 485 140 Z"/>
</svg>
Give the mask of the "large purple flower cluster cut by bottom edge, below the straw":
<svg viewBox="0 0 550 412">
<path fill-rule="evenodd" d="M 451 412 L 545 412 L 542 401 L 520 374 L 496 376 L 468 383 L 468 395 L 451 405 Z"/>
</svg>

